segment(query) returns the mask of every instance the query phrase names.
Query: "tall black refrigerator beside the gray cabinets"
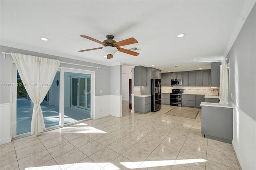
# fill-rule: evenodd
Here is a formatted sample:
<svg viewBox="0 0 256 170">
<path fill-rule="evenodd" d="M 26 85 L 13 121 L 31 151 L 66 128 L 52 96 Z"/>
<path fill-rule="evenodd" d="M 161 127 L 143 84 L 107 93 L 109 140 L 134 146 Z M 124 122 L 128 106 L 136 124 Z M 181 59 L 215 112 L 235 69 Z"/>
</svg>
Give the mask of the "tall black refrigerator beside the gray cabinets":
<svg viewBox="0 0 256 170">
<path fill-rule="evenodd" d="M 161 109 L 161 79 L 151 79 L 151 112 Z"/>
</svg>

